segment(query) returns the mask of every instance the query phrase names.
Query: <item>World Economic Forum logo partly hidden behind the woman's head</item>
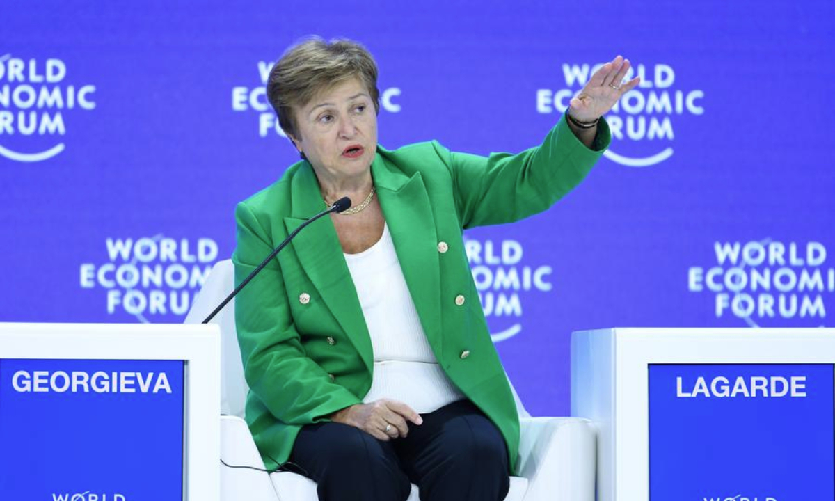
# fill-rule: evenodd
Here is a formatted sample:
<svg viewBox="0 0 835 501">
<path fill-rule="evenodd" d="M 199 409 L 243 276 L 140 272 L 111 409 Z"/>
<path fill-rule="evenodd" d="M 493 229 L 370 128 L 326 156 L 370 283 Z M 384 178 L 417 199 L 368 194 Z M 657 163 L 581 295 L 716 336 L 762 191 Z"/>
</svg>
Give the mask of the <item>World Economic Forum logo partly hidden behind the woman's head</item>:
<svg viewBox="0 0 835 501">
<path fill-rule="evenodd" d="M 278 118 L 273 111 L 270 102 L 266 99 L 266 82 L 270 78 L 270 71 L 275 63 L 272 61 L 259 61 L 257 63 L 257 74 L 260 83 L 255 85 L 235 85 L 232 88 L 232 111 L 238 113 L 252 114 L 258 116 L 258 137 L 266 138 L 275 134 L 287 137 Z M 247 78 L 249 81 L 254 81 Z M 389 87 L 380 91 L 380 109 L 388 113 L 399 113 L 401 105 L 398 104 L 401 90 L 399 87 Z"/>
</svg>

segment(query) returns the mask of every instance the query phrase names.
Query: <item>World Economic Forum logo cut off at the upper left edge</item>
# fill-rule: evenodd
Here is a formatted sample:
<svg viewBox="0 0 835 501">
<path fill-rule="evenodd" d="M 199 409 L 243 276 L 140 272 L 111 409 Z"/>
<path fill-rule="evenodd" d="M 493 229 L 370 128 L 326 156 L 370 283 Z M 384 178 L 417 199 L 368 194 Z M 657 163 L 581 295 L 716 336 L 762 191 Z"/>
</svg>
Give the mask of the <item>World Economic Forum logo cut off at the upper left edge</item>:
<svg viewBox="0 0 835 501">
<path fill-rule="evenodd" d="M 41 162 L 66 148 L 64 115 L 96 107 L 95 85 L 67 76 L 62 59 L 0 54 L 0 156 Z"/>
</svg>

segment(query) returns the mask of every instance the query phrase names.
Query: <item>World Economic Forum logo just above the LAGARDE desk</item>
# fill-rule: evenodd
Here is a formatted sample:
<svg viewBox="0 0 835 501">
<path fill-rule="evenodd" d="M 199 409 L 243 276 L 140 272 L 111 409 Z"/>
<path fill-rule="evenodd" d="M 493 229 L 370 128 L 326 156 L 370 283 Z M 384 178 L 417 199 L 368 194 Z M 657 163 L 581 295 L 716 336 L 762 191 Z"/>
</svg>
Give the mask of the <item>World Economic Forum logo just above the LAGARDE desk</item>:
<svg viewBox="0 0 835 501">
<path fill-rule="evenodd" d="M 715 264 L 691 266 L 687 289 L 712 294 L 717 319 L 731 316 L 748 326 L 778 321 L 823 326 L 835 293 L 835 268 L 821 242 L 713 242 Z"/>
</svg>

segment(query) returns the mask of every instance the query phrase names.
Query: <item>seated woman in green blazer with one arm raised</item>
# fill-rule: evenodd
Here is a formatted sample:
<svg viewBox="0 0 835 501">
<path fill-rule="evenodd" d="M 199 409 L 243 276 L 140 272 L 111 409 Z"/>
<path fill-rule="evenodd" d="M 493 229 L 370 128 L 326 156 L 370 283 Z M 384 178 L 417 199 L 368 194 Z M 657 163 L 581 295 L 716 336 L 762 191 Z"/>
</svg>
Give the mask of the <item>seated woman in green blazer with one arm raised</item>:
<svg viewBox="0 0 835 501">
<path fill-rule="evenodd" d="M 638 78 L 615 58 L 538 148 L 488 158 L 436 142 L 377 145 L 377 67 L 357 43 L 312 39 L 267 95 L 302 160 L 236 210 L 241 281 L 343 196 L 241 291 L 246 418 L 268 468 L 288 459 L 319 498 L 504 499 L 519 418 L 488 334 L 463 230 L 548 209 L 610 141 L 600 119 Z"/>
</svg>

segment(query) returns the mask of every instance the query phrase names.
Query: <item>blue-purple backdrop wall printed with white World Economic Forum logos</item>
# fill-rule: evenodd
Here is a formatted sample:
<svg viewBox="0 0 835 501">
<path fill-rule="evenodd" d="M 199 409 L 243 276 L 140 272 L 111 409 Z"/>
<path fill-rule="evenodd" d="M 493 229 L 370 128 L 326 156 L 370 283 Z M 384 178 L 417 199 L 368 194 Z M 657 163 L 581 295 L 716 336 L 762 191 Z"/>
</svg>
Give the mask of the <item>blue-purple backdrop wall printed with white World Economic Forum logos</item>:
<svg viewBox="0 0 835 501">
<path fill-rule="evenodd" d="M 574 330 L 831 325 L 831 0 L 2 11 L 0 321 L 181 321 L 234 250 L 235 204 L 297 158 L 263 82 L 316 33 L 377 58 L 387 148 L 518 151 L 596 64 L 621 53 L 644 76 L 583 185 L 467 235 L 534 414 L 569 412 Z"/>
</svg>

